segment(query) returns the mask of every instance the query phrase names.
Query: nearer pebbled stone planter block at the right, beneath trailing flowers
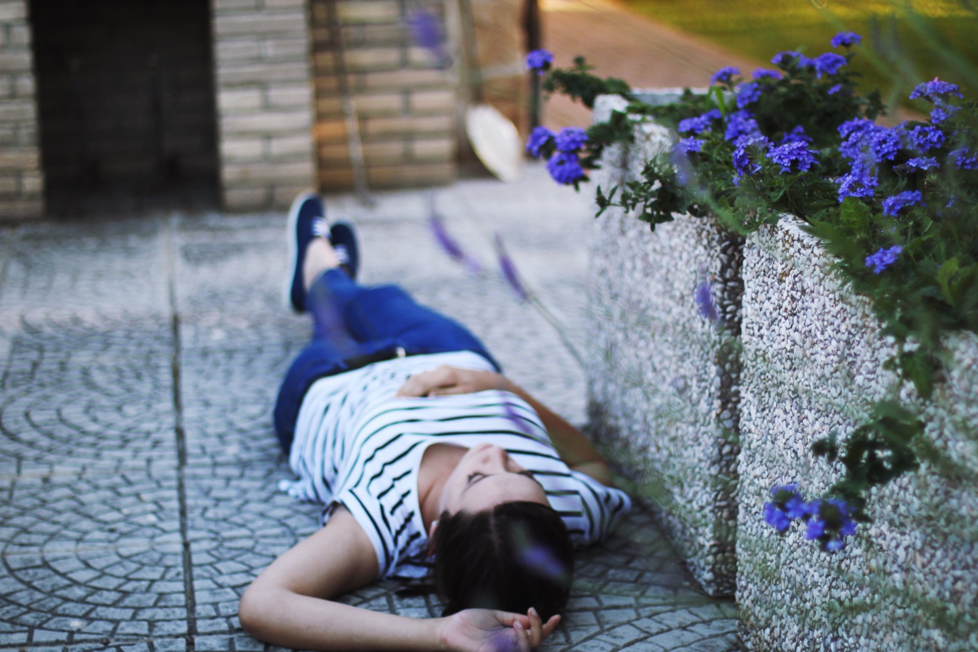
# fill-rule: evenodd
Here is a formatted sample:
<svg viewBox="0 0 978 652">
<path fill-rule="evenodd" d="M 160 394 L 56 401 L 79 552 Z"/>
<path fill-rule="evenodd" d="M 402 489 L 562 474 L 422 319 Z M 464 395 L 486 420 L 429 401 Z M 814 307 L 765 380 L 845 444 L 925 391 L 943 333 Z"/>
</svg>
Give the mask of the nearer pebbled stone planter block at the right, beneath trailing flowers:
<svg viewBox="0 0 978 652">
<path fill-rule="evenodd" d="M 743 264 L 737 599 L 748 649 L 978 649 L 978 337 L 950 338 L 947 379 L 923 407 L 945 464 L 870 496 L 875 523 L 823 554 L 762 505 L 796 481 L 813 498 L 840 477 L 809 452 L 852 430 L 895 391 L 892 353 L 864 297 L 839 286 L 818 243 L 782 220 L 752 235 Z M 911 405 L 922 406 L 911 392 Z M 958 477 L 950 469 L 957 468 Z M 950 476 L 950 477 L 949 477 Z"/>
</svg>

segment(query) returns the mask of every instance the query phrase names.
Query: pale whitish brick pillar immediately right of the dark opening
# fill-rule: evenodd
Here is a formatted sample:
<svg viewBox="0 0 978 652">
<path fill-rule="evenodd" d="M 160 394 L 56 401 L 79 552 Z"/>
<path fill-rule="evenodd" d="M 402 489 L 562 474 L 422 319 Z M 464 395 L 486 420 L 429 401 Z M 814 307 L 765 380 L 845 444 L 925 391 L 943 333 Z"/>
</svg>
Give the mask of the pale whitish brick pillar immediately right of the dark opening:
<svg viewBox="0 0 978 652">
<path fill-rule="evenodd" d="M 315 187 L 307 0 L 211 0 L 222 203 L 287 207 Z"/>
</svg>

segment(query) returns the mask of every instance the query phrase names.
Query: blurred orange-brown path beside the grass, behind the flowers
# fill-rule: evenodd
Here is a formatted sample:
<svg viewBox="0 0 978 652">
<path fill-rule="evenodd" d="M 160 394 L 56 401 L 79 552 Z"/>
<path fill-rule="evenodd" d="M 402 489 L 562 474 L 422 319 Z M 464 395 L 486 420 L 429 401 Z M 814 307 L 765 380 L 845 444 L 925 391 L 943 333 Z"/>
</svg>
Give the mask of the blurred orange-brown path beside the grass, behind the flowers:
<svg viewBox="0 0 978 652">
<path fill-rule="evenodd" d="M 600 77 L 620 77 L 632 88 L 706 86 L 724 65 L 745 73 L 763 62 L 713 45 L 633 13 L 613 0 L 541 0 L 543 44 L 565 67 L 577 55 Z M 564 97 L 544 109 L 551 129 L 591 124 L 591 111 Z"/>
</svg>

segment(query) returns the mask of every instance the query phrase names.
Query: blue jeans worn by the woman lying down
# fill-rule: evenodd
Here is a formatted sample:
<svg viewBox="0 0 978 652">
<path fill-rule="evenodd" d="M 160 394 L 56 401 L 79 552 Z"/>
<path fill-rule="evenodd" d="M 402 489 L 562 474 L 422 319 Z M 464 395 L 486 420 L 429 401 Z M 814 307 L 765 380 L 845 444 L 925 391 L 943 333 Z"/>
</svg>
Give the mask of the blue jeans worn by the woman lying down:
<svg viewBox="0 0 978 652">
<path fill-rule="evenodd" d="M 306 309 L 312 342 L 292 361 L 275 404 L 275 432 L 287 455 L 306 391 L 319 378 L 349 369 L 344 361 L 351 358 L 397 347 L 408 355 L 473 351 L 501 370 L 465 326 L 419 305 L 397 285 L 368 287 L 327 270 L 309 288 Z"/>
</svg>

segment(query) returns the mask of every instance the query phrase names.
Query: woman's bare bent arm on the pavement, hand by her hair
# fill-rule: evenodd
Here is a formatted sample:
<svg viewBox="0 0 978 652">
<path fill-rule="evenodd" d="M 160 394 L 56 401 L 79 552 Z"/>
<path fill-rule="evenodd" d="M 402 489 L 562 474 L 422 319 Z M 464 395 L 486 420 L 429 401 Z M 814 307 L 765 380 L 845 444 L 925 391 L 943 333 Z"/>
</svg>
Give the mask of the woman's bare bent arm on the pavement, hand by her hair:
<svg viewBox="0 0 978 652">
<path fill-rule="evenodd" d="M 377 556 L 363 529 L 337 507 L 326 527 L 275 560 L 242 596 L 242 627 L 255 638 L 316 650 L 525 650 L 556 628 L 534 614 L 469 609 L 414 619 L 333 602 L 373 582 Z M 500 643 L 502 645 L 500 646 Z"/>
</svg>

